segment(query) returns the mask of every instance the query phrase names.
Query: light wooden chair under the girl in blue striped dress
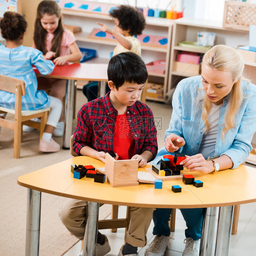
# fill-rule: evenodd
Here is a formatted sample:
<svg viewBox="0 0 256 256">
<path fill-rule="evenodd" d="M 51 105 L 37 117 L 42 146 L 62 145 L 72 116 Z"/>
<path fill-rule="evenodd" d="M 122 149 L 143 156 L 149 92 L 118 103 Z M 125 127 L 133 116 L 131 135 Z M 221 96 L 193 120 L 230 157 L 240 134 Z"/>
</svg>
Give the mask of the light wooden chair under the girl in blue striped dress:
<svg viewBox="0 0 256 256">
<path fill-rule="evenodd" d="M 25 111 L 21 110 L 21 96 L 26 94 L 25 83 L 21 79 L 0 75 L 0 90 L 15 94 L 15 109 L 8 109 L 0 106 L 0 113 L 10 113 L 14 115 L 14 121 L 0 118 L 0 127 L 14 130 L 14 151 L 13 157 L 20 158 L 22 125 L 26 124 L 30 127 L 40 130 L 40 139 L 46 125 L 48 111 L 50 108 L 41 110 Z M 31 121 L 32 118 L 41 118 L 41 123 Z"/>
</svg>

